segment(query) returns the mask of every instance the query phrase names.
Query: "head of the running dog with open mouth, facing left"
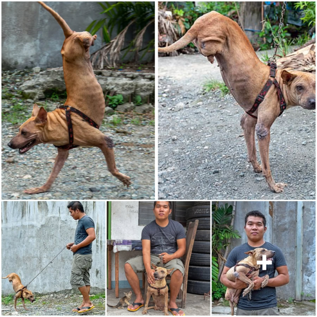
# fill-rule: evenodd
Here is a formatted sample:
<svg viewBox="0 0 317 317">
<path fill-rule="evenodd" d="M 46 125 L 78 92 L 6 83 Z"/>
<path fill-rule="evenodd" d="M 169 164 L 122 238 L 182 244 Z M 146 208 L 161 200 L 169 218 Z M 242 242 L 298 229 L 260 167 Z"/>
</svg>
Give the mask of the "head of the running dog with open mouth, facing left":
<svg viewBox="0 0 317 317">
<path fill-rule="evenodd" d="M 28 152 L 31 147 L 42 143 L 40 136 L 46 121 L 46 110 L 34 104 L 31 118 L 19 127 L 19 133 L 10 140 L 8 146 L 11 149 L 19 149 L 19 153 L 23 154 Z"/>
</svg>

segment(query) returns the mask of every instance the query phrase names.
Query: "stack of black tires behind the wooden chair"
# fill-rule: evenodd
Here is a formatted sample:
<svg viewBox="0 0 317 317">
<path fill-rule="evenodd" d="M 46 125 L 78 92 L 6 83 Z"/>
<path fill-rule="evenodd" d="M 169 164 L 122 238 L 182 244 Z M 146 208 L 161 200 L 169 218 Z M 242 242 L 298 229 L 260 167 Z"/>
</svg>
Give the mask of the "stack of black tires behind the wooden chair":
<svg viewBox="0 0 317 317">
<path fill-rule="evenodd" d="M 199 220 L 188 269 L 187 292 L 204 295 L 210 291 L 210 204 L 195 202 L 186 210 L 186 229 Z"/>
</svg>

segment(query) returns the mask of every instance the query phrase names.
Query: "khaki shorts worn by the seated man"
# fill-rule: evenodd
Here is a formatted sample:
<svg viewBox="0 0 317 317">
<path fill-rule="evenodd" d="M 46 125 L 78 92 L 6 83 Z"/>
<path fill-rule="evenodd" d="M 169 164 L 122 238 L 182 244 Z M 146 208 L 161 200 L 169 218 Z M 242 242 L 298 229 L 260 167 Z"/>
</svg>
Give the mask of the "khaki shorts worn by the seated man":
<svg viewBox="0 0 317 317">
<path fill-rule="evenodd" d="M 143 264 L 143 256 L 136 256 L 134 258 L 131 258 L 128 261 L 126 261 L 126 263 L 129 263 L 131 265 L 135 273 L 141 273 L 145 271 L 145 267 Z M 153 263 L 156 266 L 160 266 L 161 265 L 160 258 L 156 255 L 151 254 L 151 263 Z M 170 268 L 174 268 L 171 271 L 170 275 L 172 275 L 175 270 L 180 270 L 184 276 L 184 272 L 185 272 L 184 264 L 179 259 L 173 259 L 165 263 L 164 268 L 166 268 L 167 270 Z"/>
</svg>

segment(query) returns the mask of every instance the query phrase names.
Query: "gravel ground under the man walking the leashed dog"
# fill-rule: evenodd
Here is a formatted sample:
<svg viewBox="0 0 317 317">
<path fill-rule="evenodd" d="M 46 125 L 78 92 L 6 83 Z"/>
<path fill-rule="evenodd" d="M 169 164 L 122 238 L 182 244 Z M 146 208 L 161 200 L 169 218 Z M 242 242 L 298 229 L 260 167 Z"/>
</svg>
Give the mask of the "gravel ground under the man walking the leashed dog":
<svg viewBox="0 0 317 317">
<path fill-rule="evenodd" d="M 23 315 L 23 316 L 78 316 L 78 313 L 72 312 L 73 308 L 76 308 L 81 304 L 82 296 L 77 294 L 51 294 L 43 296 L 35 296 L 36 301 L 30 303 L 25 301 L 25 307 L 23 308 L 22 302 L 19 299 L 16 305 L 17 312 L 14 310 L 14 302 L 10 304 L 2 303 L 2 315 Z M 105 299 L 98 298 L 91 300 L 95 308 L 87 313 L 81 313 L 81 315 L 97 315 L 105 316 L 106 307 Z"/>
</svg>

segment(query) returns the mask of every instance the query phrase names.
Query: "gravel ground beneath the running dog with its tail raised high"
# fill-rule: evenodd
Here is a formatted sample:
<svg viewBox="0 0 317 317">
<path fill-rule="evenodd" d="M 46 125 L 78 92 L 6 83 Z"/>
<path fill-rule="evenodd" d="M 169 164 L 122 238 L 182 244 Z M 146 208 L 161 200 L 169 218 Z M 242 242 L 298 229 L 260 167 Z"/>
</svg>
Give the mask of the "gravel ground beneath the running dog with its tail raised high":
<svg viewBox="0 0 317 317">
<path fill-rule="evenodd" d="M 13 79 L 19 77 L 19 82 L 23 83 L 30 75 L 10 73 L 6 76 L 6 89 L 15 94 L 18 88 L 13 86 Z M 3 111 L 10 111 L 14 102 L 25 106 L 26 118 L 31 116 L 33 101 L 17 96 L 2 101 Z M 129 188 L 111 175 L 99 148 L 79 147 L 69 151 L 69 157 L 49 191 L 36 195 L 26 195 L 23 190 L 41 186 L 47 181 L 57 149 L 53 145 L 41 144 L 24 155 L 19 154 L 18 150 L 7 146 L 18 132 L 19 124 L 2 120 L 2 199 L 154 199 L 155 136 L 151 116 L 134 115 L 132 118 L 131 114 L 130 117 L 118 114 L 121 123 L 116 126 L 107 125 L 112 120 L 108 116 L 100 127 L 115 143 L 116 165 L 133 182 Z M 138 124 L 133 123 L 136 121 Z M 19 121 L 22 122 L 24 120 Z M 118 130 L 126 133 L 116 133 Z"/>
</svg>

